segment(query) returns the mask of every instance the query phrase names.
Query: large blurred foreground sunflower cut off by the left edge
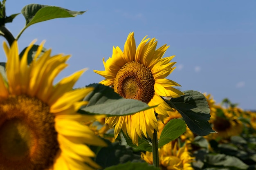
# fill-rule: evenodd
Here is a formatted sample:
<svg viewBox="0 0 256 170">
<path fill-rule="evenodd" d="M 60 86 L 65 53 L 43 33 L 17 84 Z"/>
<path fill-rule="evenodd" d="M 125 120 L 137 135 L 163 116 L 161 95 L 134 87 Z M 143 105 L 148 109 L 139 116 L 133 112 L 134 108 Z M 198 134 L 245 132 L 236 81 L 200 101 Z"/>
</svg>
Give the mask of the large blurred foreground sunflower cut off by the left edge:
<svg viewBox="0 0 256 170">
<path fill-rule="evenodd" d="M 18 44 L 4 43 L 7 80 L 0 74 L 0 170 L 92 170 L 100 168 L 85 144 L 104 146 L 78 120 L 92 117 L 76 113 L 92 88 L 72 90 L 84 70 L 62 79 L 54 78 L 67 64 L 69 55 L 50 56 L 51 50 L 28 66 L 27 55 L 19 58 Z"/>
</svg>

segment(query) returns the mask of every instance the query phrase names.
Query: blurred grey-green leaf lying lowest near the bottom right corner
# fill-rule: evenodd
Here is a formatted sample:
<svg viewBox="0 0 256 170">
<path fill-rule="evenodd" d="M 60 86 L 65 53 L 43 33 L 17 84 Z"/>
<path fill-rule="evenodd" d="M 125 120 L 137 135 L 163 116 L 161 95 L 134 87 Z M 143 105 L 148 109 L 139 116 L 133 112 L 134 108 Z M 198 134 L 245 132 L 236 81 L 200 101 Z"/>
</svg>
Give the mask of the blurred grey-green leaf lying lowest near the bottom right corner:
<svg viewBox="0 0 256 170">
<path fill-rule="evenodd" d="M 223 167 L 235 167 L 241 170 L 246 170 L 249 166 L 243 163 L 240 159 L 225 154 L 212 155 L 208 154 L 205 156 L 207 163 L 214 166 Z"/>
</svg>

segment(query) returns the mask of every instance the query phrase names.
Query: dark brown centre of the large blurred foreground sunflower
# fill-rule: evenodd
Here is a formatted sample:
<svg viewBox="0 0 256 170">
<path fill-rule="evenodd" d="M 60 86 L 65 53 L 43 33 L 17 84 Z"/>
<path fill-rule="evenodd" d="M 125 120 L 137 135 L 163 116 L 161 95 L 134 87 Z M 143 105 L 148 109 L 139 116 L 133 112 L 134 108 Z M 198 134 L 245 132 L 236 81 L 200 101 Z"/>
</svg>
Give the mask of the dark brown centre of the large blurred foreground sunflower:
<svg viewBox="0 0 256 170">
<path fill-rule="evenodd" d="M 25 95 L 0 101 L 0 170 L 49 169 L 58 150 L 49 106 Z"/>
</svg>

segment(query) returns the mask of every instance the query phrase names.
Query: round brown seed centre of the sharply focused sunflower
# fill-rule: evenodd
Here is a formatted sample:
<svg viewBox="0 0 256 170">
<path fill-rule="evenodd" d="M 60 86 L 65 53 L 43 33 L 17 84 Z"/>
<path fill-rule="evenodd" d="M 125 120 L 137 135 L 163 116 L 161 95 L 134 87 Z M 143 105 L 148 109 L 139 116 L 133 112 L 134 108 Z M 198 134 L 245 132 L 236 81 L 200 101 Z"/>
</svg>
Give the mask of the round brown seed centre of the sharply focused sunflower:
<svg viewBox="0 0 256 170">
<path fill-rule="evenodd" d="M 115 92 L 127 99 L 149 103 L 155 94 L 151 71 L 139 62 L 126 63 L 114 80 Z"/>
</svg>

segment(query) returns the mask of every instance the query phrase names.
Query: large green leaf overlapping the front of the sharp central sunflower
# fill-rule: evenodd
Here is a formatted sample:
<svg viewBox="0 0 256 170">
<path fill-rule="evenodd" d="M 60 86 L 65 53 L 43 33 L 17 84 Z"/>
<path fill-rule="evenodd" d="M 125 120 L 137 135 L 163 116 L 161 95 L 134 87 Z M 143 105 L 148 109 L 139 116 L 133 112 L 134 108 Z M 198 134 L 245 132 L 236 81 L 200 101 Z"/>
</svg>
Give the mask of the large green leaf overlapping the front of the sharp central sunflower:
<svg viewBox="0 0 256 170">
<path fill-rule="evenodd" d="M 94 87 L 94 91 L 84 98 L 85 101 L 88 101 L 88 105 L 78 111 L 81 114 L 121 116 L 131 115 L 154 107 L 150 107 L 139 100 L 124 99 L 109 86 L 90 84 L 88 87 Z"/>
</svg>

